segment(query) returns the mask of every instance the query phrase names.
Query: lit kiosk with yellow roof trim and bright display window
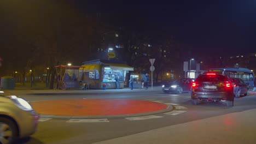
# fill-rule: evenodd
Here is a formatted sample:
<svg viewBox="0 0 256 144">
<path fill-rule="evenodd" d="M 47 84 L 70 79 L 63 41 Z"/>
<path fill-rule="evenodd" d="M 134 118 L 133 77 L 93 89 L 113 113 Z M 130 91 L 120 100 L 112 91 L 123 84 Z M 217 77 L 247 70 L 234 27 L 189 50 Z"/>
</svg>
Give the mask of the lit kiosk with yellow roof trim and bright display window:
<svg viewBox="0 0 256 144">
<path fill-rule="evenodd" d="M 101 89 L 102 86 L 106 86 L 106 89 L 117 88 L 116 80 L 119 88 L 124 88 L 126 74 L 133 71 L 133 67 L 125 63 L 103 59 L 83 62 L 82 67 L 82 80 L 88 82 L 93 89 Z"/>
</svg>

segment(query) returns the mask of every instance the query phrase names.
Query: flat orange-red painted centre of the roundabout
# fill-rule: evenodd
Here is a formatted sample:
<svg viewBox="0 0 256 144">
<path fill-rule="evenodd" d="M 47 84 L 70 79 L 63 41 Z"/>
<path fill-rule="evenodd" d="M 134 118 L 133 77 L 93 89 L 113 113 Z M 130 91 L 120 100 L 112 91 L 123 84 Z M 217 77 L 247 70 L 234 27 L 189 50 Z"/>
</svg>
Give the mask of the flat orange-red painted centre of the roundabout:
<svg viewBox="0 0 256 144">
<path fill-rule="evenodd" d="M 31 105 L 39 114 L 62 116 L 129 115 L 167 109 L 165 104 L 131 99 L 45 100 L 32 101 Z"/>
</svg>

